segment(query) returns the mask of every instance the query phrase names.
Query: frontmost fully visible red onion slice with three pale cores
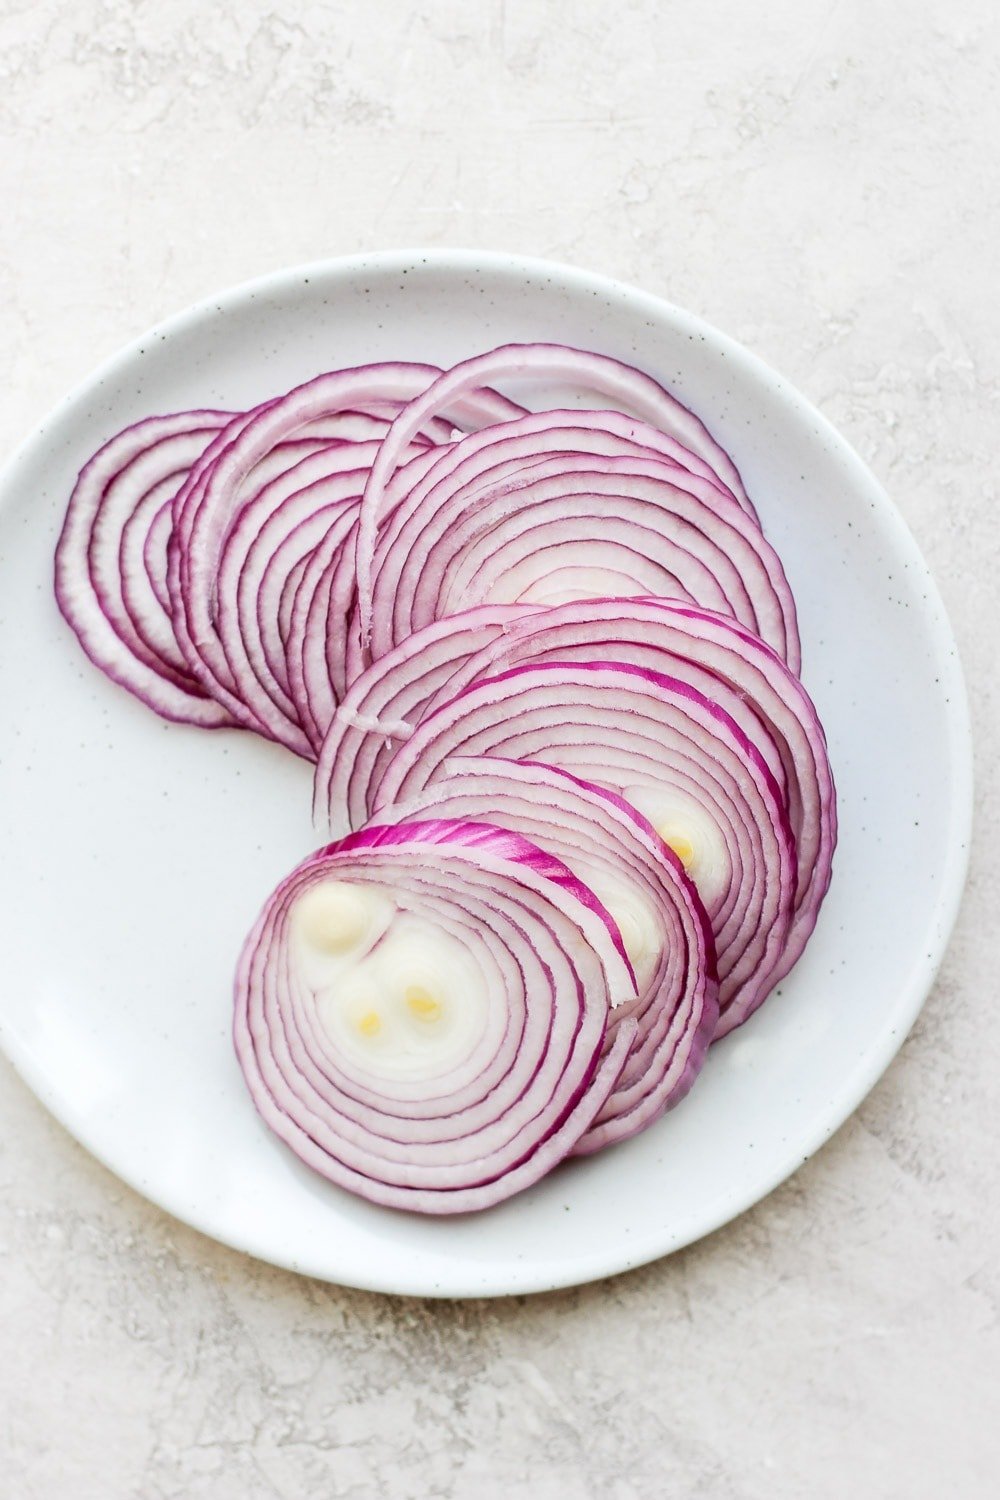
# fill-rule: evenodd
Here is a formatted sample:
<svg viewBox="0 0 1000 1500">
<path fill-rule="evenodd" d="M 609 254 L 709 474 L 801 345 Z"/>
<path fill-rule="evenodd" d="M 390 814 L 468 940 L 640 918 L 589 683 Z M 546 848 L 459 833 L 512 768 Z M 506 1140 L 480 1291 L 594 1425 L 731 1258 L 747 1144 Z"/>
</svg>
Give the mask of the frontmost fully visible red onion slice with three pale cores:
<svg viewBox="0 0 1000 1500">
<path fill-rule="evenodd" d="M 573 1149 L 621 1072 L 633 994 L 607 912 L 508 831 L 427 820 L 312 855 L 243 950 L 234 1036 L 253 1101 L 309 1166 L 376 1203 L 487 1208 Z"/>
</svg>

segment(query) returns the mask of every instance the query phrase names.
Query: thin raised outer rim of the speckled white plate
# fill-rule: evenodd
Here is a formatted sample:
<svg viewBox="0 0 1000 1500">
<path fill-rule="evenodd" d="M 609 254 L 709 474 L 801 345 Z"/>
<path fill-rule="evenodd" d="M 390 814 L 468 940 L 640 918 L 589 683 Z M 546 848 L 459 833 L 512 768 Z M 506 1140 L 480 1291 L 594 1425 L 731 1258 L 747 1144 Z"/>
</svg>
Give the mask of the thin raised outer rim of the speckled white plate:
<svg viewBox="0 0 1000 1500">
<path fill-rule="evenodd" d="M 817 435 L 823 438 L 847 465 L 853 483 L 862 488 L 874 500 L 880 520 L 888 525 L 892 532 L 894 544 L 906 555 L 910 568 L 921 580 L 925 594 L 925 608 L 922 610 L 924 622 L 940 658 L 942 694 L 946 699 L 946 744 L 951 771 L 952 820 L 949 825 L 948 844 L 942 858 L 939 896 L 931 912 L 930 930 L 919 962 L 912 966 L 906 982 L 901 982 L 892 992 L 892 1004 L 888 1014 L 883 1017 L 882 1028 L 874 1034 L 870 1046 L 865 1048 L 855 1068 L 844 1077 L 835 1101 L 828 1102 L 823 1108 L 820 1124 L 817 1124 L 810 1134 L 799 1136 L 795 1142 L 795 1149 L 790 1149 L 786 1155 L 780 1156 L 778 1164 L 772 1172 L 766 1173 L 763 1179 L 754 1180 L 750 1196 L 747 1192 L 733 1191 L 717 1204 L 714 1214 L 703 1215 L 699 1228 L 681 1232 L 675 1236 L 664 1234 L 663 1232 L 651 1234 L 648 1240 L 630 1244 L 628 1256 L 609 1257 L 607 1252 L 594 1252 L 589 1256 L 582 1254 L 576 1257 L 567 1256 L 558 1263 L 558 1266 L 552 1264 L 535 1270 L 532 1270 L 531 1262 L 525 1262 L 523 1264 L 520 1262 L 514 1264 L 504 1263 L 501 1268 L 489 1260 L 474 1260 L 468 1262 L 462 1268 L 448 1268 L 451 1275 L 448 1286 L 442 1286 L 439 1281 L 430 1282 L 426 1275 L 406 1276 L 405 1274 L 394 1276 L 391 1284 L 388 1278 L 378 1275 L 367 1278 L 363 1275 L 351 1275 L 348 1280 L 343 1280 L 342 1274 L 330 1269 L 328 1266 L 324 1269 L 318 1262 L 312 1263 L 309 1257 L 282 1257 L 271 1252 L 267 1256 L 259 1254 L 246 1244 L 241 1244 L 237 1238 L 223 1234 L 216 1227 L 210 1227 L 201 1214 L 192 1214 L 181 1204 L 171 1202 L 169 1192 L 157 1194 L 150 1190 L 148 1184 L 138 1180 L 133 1173 L 123 1173 L 117 1166 L 106 1160 L 100 1149 L 90 1144 L 85 1138 L 85 1131 L 81 1134 L 76 1126 L 66 1119 L 63 1110 L 60 1108 L 58 1098 L 55 1096 L 55 1090 L 49 1088 L 43 1070 L 33 1065 L 30 1053 L 25 1048 L 21 1048 L 16 1038 L 9 1034 L 3 1011 L 0 1011 L 0 1048 L 22 1082 L 69 1132 L 69 1136 L 72 1136 L 73 1140 L 76 1140 L 120 1182 L 124 1182 L 142 1198 L 178 1220 L 178 1222 L 195 1228 L 198 1233 L 205 1234 L 217 1244 L 226 1245 L 229 1250 L 298 1275 L 307 1275 L 330 1284 L 354 1287 L 364 1292 L 444 1299 L 523 1296 L 583 1286 L 606 1276 L 619 1275 L 670 1256 L 675 1251 L 715 1233 L 724 1224 L 754 1208 L 774 1192 L 777 1186 L 786 1182 L 801 1166 L 814 1156 L 828 1140 L 831 1140 L 831 1137 L 850 1119 L 861 1102 L 868 1096 L 910 1034 L 940 972 L 958 920 L 969 873 L 973 831 L 975 771 L 972 718 L 958 640 L 940 590 L 904 516 L 882 482 L 864 462 L 849 440 L 784 375 L 739 340 L 702 318 L 699 314 L 690 312 L 687 308 L 682 308 L 655 292 L 648 292 L 640 286 L 634 286 L 630 282 L 568 262 L 552 261 L 532 255 L 520 255 L 516 252 L 481 250 L 471 248 L 433 246 L 415 249 L 382 249 L 318 258 L 294 266 L 279 267 L 277 270 L 237 282 L 235 285 L 226 286 L 217 292 L 202 296 L 189 306 L 145 328 L 136 338 L 130 339 L 121 348 L 115 350 L 111 356 L 97 363 L 87 375 L 84 375 L 82 380 L 76 381 L 66 392 L 66 394 L 55 402 L 54 406 L 49 408 L 40 423 L 28 429 L 28 434 L 19 444 L 15 446 L 13 452 L 0 468 L 0 507 L 7 504 L 12 494 L 16 492 L 18 471 L 36 458 L 37 450 L 48 441 L 49 430 L 55 428 L 63 417 L 72 412 L 73 406 L 88 399 L 105 380 L 118 375 L 136 357 L 139 357 L 150 340 L 174 338 L 187 332 L 207 316 L 231 310 L 232 308 L 255 300 L 262 294 L 288 291 L 294 284 L 309 282 L 313 276 L 336 278 L 337 274 L 357 273 L 361 267 L 375 273 L 393 270 L 396 273 L 402 273 L 403 268 L 414 268 L 418 264 L 459 276 L 469 276 L 475 272 L 490 272 L 522 279 L 550 278 L 559 286 L 568 286 L 574 291 L 597 291 L 607 300 L 621 298 L 627 304 L 646 308 L 649 314 L 657 318 L 667 316 L 669 320 L 673 320 L 675 324 L 687 326 L 687 328 L 700 334 L 714 348 L 724 352 L 733 366 L 742 368 L 748 376 L 768 387 L 781 399 L 783 404 L 798 408 L 804 417 L 808 417 L 814 424 Z M 498 1270 L 501 1270 L 499 1278 L 496 1275 Z"/>
</svg>

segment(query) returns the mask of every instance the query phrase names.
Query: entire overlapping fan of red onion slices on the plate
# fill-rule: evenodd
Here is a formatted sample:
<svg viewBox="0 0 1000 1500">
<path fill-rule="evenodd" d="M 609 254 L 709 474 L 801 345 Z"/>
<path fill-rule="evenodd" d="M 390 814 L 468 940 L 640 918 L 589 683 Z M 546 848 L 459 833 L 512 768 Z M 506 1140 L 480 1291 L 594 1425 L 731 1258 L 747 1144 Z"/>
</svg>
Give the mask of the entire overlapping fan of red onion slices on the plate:
<svg viewBox="0 0 1000 1500">
<path fill-rule="evenodd" d="M 601 405 L 495 388 L 534 380 Z M 160 716 L 316 762 L 337 842 L 247 938 L 235 1046 L 363 1197 L 481 1209 L 646 1128 L 813 932 L 837 816 L 792 591 L 640 370 L 507 345 L 147 418 L 81 471 L 55 594 Z"/>
</svg>

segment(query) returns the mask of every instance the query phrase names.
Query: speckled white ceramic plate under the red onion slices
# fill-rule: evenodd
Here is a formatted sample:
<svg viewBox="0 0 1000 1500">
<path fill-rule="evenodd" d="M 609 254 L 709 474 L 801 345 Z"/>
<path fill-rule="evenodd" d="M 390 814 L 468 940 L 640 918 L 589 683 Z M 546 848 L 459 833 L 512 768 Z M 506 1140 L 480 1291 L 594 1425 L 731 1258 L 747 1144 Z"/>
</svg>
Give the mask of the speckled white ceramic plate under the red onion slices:
<svg viewBox="0 0 1000 1500">
<path fill-rule="evenodd" d="M 247 735 L 163 724 L 108 682 L 57 615 L 51 558 L 76 470 L 138 417 L 243 408 L 331 366 L 447 364 L 511 339 L 645 366 L 736 458 L 799 603 L 841 840 L 805 957 L 712 1052 L 675 1113 L 499 1209 L 433 1221 L 372 1208 L 301 1167 L 258 1120 L 232 1056 L 241 938 L 316 842 L 309 768 Z M 282 272 L 105 364 L 22 447 L 0 494 L 0 1041 L 58 1119 L 171 1214 L 358 1287 L 574 1284 L 748 1208 L 895 1054 L 966 872 L 972 770 L 955 642 L 910 534 L 852 448 L 697 318 L 598 276 L 478 252 Z"/>
</svg>

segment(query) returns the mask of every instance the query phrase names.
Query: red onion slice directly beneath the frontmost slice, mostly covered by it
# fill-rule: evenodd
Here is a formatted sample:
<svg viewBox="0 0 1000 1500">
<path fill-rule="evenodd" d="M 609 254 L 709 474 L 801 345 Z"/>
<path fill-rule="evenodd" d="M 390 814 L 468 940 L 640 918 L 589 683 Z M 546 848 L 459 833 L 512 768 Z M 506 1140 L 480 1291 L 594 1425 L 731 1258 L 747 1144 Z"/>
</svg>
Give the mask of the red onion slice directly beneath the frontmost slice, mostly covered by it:
<svg viewBox="0 0 1000 1500">
<path fill-rule="evenodd" d="M 639 986 L 613 1011 L 604 1048 L 628 1018 L 636 1038 L 618 1084 L 574 1155 L 645 1130 L 688 1092 L 718 1020 L 711 927 L 691 880 L 651 824 L 604 788 L 555 766 L 456 758 L 447 776 L 382 818 L 487 820 L 561 860 L 603 902 Z"/>
</svg>

